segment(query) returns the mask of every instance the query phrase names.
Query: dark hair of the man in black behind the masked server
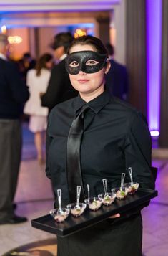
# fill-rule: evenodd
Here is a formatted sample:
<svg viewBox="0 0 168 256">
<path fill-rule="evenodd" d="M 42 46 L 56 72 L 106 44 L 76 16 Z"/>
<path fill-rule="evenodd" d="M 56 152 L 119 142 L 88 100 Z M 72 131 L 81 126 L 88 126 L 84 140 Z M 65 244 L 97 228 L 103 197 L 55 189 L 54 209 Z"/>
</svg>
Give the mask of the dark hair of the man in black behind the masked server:
<svg viewBox="0 0 168 256">
<path fill-rule="evenodd" d="M 73 41 L 74 37 L 72 37 L 70 32 L 61 32 L 56 34 L 53 42 L 50 44 L 52 49 L 57 49 L 60 46 L 64 47 L 64 52 L 67 52 L 69 44 Z"/>
</svg>

